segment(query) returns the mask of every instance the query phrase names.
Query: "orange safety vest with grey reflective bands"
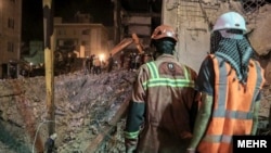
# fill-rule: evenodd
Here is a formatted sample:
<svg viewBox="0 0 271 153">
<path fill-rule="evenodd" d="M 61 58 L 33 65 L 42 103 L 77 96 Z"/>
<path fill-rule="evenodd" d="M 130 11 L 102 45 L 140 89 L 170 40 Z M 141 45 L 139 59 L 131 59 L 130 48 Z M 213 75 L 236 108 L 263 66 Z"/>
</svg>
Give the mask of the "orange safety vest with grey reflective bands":
<svg viewBox="0 0 271 153">
<path fill-rule="evenodd" d="M 214 55 L 215 93 L 212 114 L 197 146 L 199 153 L 231 153 L 232 136 L 250 135 L 253 110 L 264 78 L 257 61 L 249 61 L 247 84 L 242 85 L 230 64 Z"/>
</svg>

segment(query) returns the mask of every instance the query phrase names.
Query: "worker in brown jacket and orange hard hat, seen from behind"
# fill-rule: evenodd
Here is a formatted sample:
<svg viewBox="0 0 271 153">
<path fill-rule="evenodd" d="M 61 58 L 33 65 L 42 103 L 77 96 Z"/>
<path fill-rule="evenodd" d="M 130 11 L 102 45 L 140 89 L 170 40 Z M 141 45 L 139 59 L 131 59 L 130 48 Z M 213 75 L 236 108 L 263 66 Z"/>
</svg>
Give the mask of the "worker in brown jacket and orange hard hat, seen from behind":
<svg viewBox="0 0 271 153">
<path fill-rule="evenodd" d="M 152 41 L 159 55 L 139 68 L 126 120 L 126 152 L 185 152 L 196 73 L 173 56 L 178 38 L 172 27 L 156 27 Z"/>
</svg>

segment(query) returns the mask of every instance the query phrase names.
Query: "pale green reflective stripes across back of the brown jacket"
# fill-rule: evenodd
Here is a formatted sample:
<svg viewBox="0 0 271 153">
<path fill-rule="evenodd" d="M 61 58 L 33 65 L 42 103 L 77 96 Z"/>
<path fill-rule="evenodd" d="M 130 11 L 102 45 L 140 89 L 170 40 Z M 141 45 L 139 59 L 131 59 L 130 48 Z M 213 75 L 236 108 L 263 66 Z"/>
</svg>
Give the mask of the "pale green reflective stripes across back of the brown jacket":
<svg viewBox="0 0 271 153">
<path fill-rule="evenodd" d="M 183 66 L 184 69 L 184 79 L 171 79 L 171 78 L 163 78 L 159 76 L 158 69 L 154 62 L 150 62 L 146 64 L 150 73 L 151 73 L 151 79 L 143 82 L 143 88 L 146 90 L 150 87 L 157 87 L 157 86 L 164 86 L 164 87 L 194 87 L 194 81 L 191 80 L 191 74 L 188 73 L 188 69 Z"/>
</svg>

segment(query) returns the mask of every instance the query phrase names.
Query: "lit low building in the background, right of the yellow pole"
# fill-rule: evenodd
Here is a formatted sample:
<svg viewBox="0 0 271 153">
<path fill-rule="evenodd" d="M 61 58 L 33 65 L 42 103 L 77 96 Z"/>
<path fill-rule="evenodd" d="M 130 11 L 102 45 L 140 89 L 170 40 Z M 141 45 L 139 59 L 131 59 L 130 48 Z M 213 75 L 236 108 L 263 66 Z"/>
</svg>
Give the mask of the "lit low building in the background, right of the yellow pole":
<svg viewBox="0 0 271 153">
<path fill-rule="evenodd" d="M 108 56 L 108 33 L 103 24 L 62 23 L 54 20 L 55 50 L 76 52 L 78 58 L 92 54 Z"/>
</svg>

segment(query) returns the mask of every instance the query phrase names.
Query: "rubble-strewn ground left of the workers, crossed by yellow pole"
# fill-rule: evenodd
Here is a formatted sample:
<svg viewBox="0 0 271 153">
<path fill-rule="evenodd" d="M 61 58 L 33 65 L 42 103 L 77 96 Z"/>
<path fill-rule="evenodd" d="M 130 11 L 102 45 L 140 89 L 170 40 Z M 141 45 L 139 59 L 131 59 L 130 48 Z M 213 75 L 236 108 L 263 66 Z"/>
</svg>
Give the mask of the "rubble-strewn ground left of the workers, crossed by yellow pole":
<svg viewBox="0 0 271 153">
<path fill-rule="evenodd" d="M 121 107 L 134 76 L 114 71 L 55 77 L 55 122 L 47 119 L 44 77 L 0 80 L 0 152 L 42 152 L 49 123 L 55 123 L 57 153 L 122 152 Z"/>
</svg>

